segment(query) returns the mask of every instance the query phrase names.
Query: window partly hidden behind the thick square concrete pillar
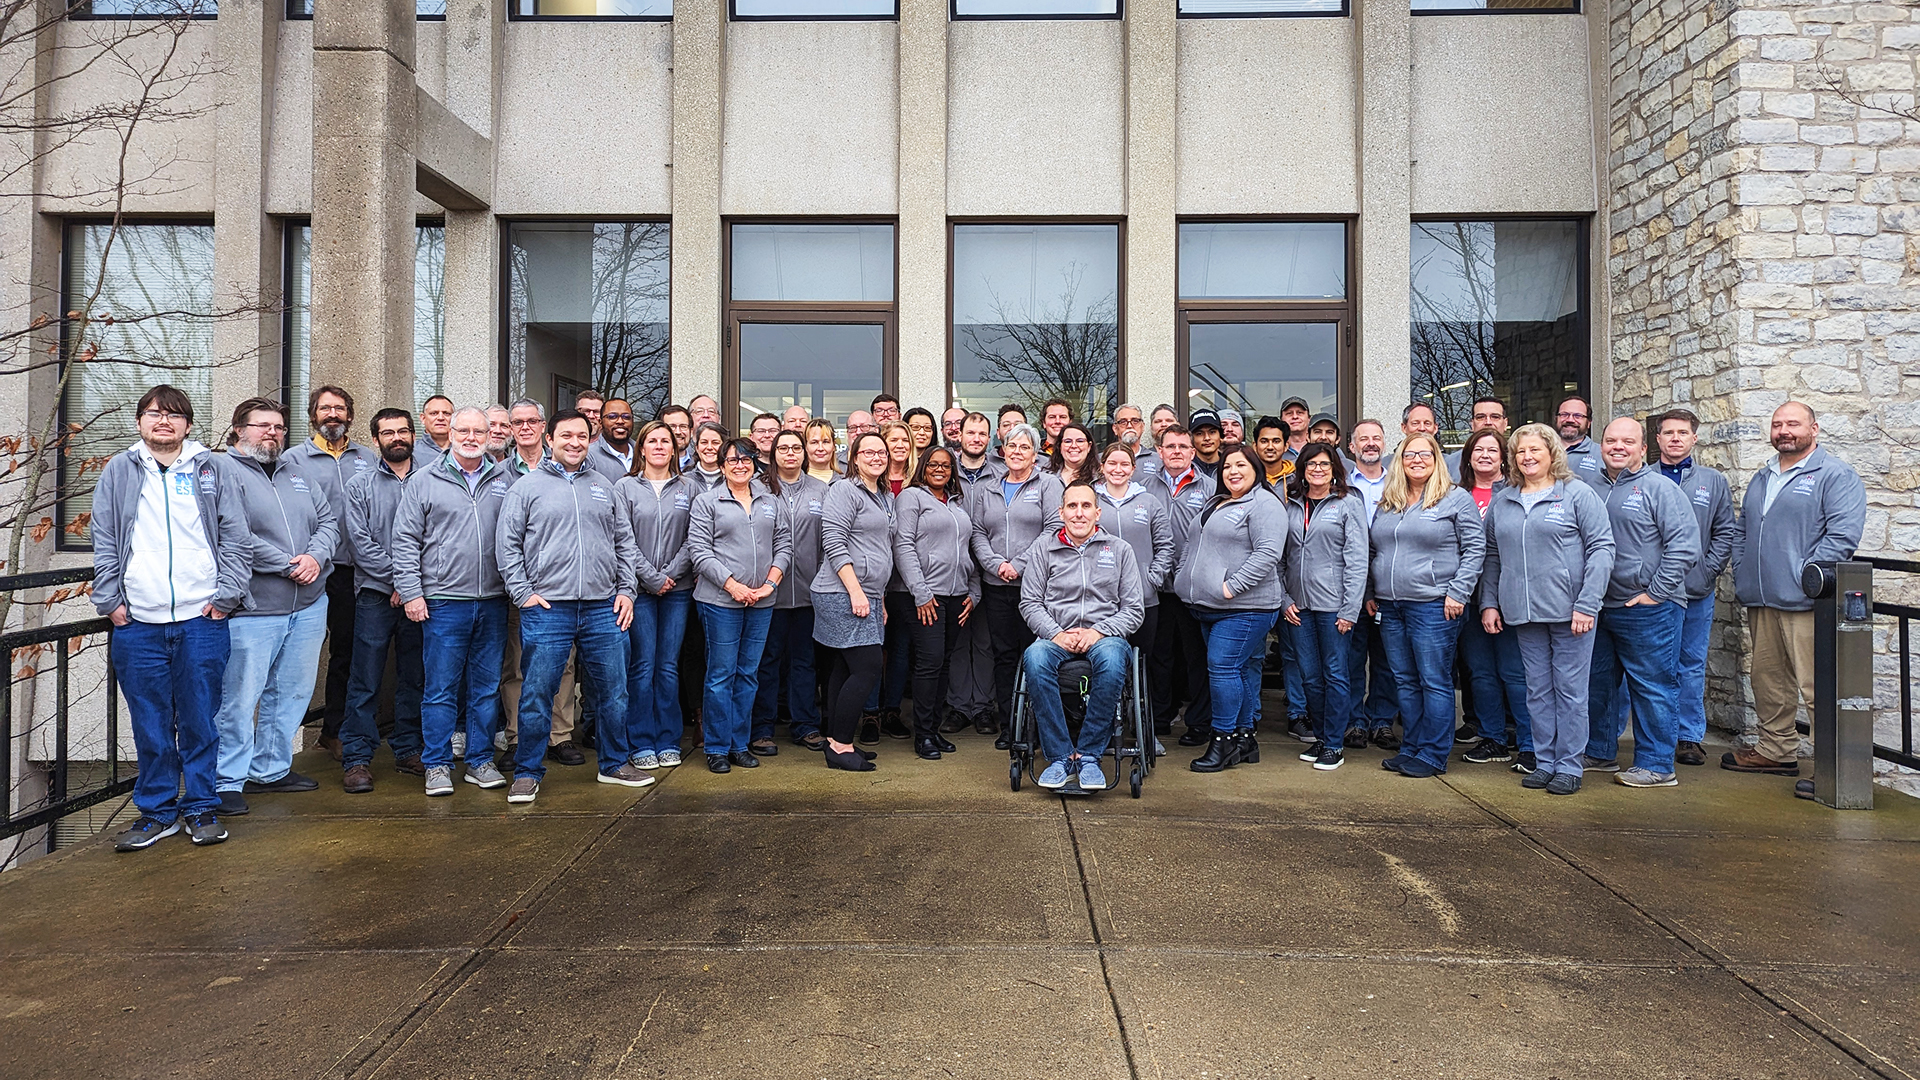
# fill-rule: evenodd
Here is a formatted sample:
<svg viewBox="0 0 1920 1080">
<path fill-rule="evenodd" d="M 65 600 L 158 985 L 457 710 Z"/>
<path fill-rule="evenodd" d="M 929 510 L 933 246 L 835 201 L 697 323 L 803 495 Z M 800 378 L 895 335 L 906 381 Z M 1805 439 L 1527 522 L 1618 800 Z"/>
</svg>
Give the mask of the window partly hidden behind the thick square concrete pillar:
<svg viewBox="0 0 1920 1080">
<path fill-rule="evenodd" d="M 399 407 L 417 411 L 440 394 L 447 371 L 447 229 L 420 225 L 413 242 L 413 400 Z M 286 405 L 288 444 L 307 438 L 307 388 L 313 382 L 313 227 L 286 227 Z M 348 386 L 351 390 L 351 386 Z M 374 405 L 384 409 L 386 404 Z M 361 405 L 365 417 L 372 409 Z M 365 429 L 353 438 L 367 438 Z"/>
</svg>

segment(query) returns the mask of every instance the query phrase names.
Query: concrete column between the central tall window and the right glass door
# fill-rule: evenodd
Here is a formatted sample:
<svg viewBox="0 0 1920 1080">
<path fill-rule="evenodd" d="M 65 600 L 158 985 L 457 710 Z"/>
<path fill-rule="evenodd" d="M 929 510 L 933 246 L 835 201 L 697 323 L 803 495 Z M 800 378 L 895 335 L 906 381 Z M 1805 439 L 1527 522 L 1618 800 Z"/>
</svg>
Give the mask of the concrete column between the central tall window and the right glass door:
<svg viewBox="0 0 1920 1080">
<path fill-rule="evenodd" d="M 1127 311 L 1119 396 L 1142 409 L 1173 402 L 1179 244 L 1173 221 L 1179 19 L 1173 8 L 1171 2 L 1127 6 Z"/>
</svg>

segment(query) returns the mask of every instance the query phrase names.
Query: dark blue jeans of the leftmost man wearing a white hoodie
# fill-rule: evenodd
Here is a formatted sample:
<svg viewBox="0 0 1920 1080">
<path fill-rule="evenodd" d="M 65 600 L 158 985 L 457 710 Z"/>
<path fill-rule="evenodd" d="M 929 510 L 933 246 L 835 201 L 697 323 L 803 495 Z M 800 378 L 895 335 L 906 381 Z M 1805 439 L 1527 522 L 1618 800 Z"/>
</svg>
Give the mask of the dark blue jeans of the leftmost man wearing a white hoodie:
<svg viewBox="0 0 1920 1080">
<path fill-rule="evenodd" d="M 221 803 L 213 792 L 221 751 L 213 715 L 221 709 L 230 648 L 227 623 L 196 615 L 113 628 L 113 678 L 127 696 L 127 726 L 140 763 L 132 805 L 154 821 L 171 822 Z"/>
</svg>

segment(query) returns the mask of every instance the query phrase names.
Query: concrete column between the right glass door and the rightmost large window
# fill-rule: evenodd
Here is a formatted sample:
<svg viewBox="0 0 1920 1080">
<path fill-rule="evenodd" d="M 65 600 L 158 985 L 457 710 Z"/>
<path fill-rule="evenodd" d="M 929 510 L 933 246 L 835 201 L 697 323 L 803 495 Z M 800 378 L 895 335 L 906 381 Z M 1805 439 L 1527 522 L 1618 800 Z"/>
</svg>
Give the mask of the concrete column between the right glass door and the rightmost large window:
<svg viewBox="0 0 1920 1080">
<path fill-rule="evenodd" d="M 1411 15 L 1407 0 L 1354 0 L 1359 77 L 1359 415 L 1400 423 L 1413 382 L 1411 317 Z"/>
</svg>

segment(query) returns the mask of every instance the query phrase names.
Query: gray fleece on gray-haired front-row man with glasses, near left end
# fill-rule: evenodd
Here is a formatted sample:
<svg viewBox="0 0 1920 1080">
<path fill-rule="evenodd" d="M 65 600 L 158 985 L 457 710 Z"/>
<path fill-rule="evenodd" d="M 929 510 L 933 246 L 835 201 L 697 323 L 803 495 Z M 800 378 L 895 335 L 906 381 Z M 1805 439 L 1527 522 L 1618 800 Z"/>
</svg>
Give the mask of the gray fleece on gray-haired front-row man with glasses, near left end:
<svg viewBox="0 0 1920 1080">
<path fill-rule="evenodd" d="M 401 603 L 488 600 L 507 592 L 495 538 L 507 496 L 516 486 L 505 461 L 482 461 L 480 480 L 468 492 L 451 454 L 407 477 L 388 550 Z"/>
</svg>

